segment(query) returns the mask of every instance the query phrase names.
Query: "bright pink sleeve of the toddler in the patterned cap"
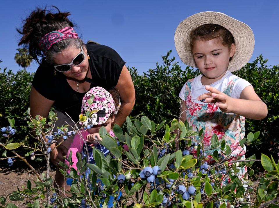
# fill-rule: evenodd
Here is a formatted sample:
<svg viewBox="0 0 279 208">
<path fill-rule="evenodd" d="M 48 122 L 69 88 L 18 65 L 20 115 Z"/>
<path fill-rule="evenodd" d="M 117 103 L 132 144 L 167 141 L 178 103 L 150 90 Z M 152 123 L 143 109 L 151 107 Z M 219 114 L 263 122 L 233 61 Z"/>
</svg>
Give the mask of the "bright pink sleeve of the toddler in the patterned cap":
<svg viewBox="0 0 279 208">
<path fill-rule="evenodd" d="M 67 157 L 69 157 L 69 154 L 70 152 L 72 151 L 72 167 L 74 169 L 77 170 L 77 167 L 76 167 L 76 163 L 78 162 L 78 158 L 76 157 L 76 153 L 81 153 L 81 148 L 83 146 L 83 144 L 85 143 L 85 140 L 86 140 L 86 137 L 88 135 L 88 131 L 81 131 L 81 135 L 82 135 L 82 138 L 80 137 L 80 135 L 76 134 L 74 139 L 73 139 L 73 142 L 71 143 L 69 149 L 68 149 L 68 152 L 67 152 Z M 65 164 L 67 164 L 67 166 L 69 166 L 69 162 L 67 160 L 65 160 Z M 70 169 L 67 169 L 67 173 L 69 174 L 70 173 Z"/>
</svg>

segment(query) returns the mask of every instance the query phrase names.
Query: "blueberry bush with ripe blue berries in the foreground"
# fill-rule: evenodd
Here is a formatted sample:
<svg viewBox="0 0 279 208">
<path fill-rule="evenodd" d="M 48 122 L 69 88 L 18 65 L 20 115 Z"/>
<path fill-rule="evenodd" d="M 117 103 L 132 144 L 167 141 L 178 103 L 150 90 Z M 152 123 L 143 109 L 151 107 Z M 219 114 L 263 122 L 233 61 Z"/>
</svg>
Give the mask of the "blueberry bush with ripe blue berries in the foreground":
<svg viewBox="0 0 279 208">
<path fill-rule="evenodd" d="M 58 138 L 63 138 L 63 142 L 69 135 L 79 134 L 90 126 L 68 131 L 68 126 L 55 126 L 57 114 L 53 111 L 49 113 L 48 122 L 39 115 L 32 118 L 30 109 L 27 113 L 28 126 L 34 129 L 38 145 L 26 146 L 25 141 L 13 141 L 13 134 L 17 133 L 14 119 L 8 120 L 9 126 L 1 128 L 6 141 L 0 143 L 6 149 L 2 159 L 6 158 L 8 165 L 15 160 L 23 160 L 38 176 L 35 187 L 28 181 L 26 187 L 18 187 L 7 196 L 12 201 L 26 201 L 26 207 L 278 207 L 279 164 L 272 156 L 269 158 L 262 154 L 261 160 L 256 160 L 254 155 L 246 160 L 231 158 L 230 146 L 223 138 L 218 140 L 214 135 L 211 147 L 219 151 L 215 151 L 208 160 L 200 142 L 202 131 L 195 132 L 187 122 L 177 119 L 167 124 L 164 121 L 155 123 L 146 116 L 137 117 L 133 122 L 127 117 L 126 129 L 115 125 L 115 138 L 102 127 L 99 130 L 101 144 L 110 154 L 104 156 L 97 148 L 92 148 L 95 162 L 88 164 L 88 153 L 77 153 L 77 170 L 71 167 L 70 154 L 66 158 L 69 167 L 60 162 L 59 170 L 72 180 L 71 189 L 58 189 L 49 175 L 52 151 L 49 146 Z M 46 123 L 49 124 L 47 129 Z M 59 129 L 57 133 L 53 133 L 55 128 Z M 163 136 L 159 136 L 158 132 L 163 132 Z M 194 135 L 197 140 L 193 140 Z M 239 142 L 240 146 L 243 148 L 245 144 L 251 144 L 259 135 L 259 132 L 249 133 Z M 146 142 L 152 145 L 146 146 Z M 128 146 L 128 151 L 123 148 L 124 144 Z M 178 148 L 176 144 L 179 144 Z M 16 152 L 22 147 L 29 149 L 24 156 Z M 14 156 L 7 157 L 7 151 Z M 29 158 L 33 160 L 38 155 L 43 155 L 46 160 L 43 174 L 28 163 Z M 261 162 L 267 171 L 258 187 L 253 187 L 253 181 L 249 180 L 254 173 L 254 162 Z M 244 168 L 248 169 L 246 173 L 243 173 Z M 70 171 L 67 173 L 65 169 Z M 67 197 L 62 197 L 62 192 L 66 192 Z M 128 203 L 130 198 L 133 202 Z M 109 204 L 110 199 L 112 205 Z M 0 207 L 16 206 L 6 203 L 6 198 L 1 197 Z"/>
</svg>

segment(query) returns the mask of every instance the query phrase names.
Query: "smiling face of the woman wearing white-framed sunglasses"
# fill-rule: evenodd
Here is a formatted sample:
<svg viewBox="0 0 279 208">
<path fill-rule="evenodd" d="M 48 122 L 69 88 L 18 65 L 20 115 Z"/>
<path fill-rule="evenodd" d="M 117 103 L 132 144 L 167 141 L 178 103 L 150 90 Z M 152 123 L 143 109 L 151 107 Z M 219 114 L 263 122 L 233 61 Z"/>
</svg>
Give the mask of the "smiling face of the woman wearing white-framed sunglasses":
<svg viewBox="0 0 279 208">
<path fill-rule="evenodd" d="M 78 66 L 71 65 L 71 70 L 63 72 L 66 77 L 80 81 L 86 77 L 89 68 L 89 62 L 87 58 L 87 50 L 83 48 L 83 51 L 85 53 L 85 60 Z M 66 48 L 54 57 L 53 62 L 55 65 L 71 63 L 76 55 L 80 52 L 81 48 Z"/>
</svg>

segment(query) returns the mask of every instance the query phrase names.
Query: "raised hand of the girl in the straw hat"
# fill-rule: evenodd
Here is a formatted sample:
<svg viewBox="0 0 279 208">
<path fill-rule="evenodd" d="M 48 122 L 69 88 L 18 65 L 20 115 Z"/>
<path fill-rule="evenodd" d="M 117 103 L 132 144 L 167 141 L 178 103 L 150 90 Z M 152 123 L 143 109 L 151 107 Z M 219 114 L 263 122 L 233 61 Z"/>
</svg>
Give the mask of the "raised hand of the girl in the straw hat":
<svg viewBox="0 0 279 208">
<path fill-rule="evenodd" d="M 204 93 L 197 97 L 197 100 L 205 103 L 214 103 L 217 107 L 220 108 L 224 113 L 230 113 L 231 110 L 228 106 L 230 106 L 230 99 L 228 95 L 220 92 L 214 87 L 205 86 L 205 89 L 208 90 L 208 93 Z"/>
</svg>

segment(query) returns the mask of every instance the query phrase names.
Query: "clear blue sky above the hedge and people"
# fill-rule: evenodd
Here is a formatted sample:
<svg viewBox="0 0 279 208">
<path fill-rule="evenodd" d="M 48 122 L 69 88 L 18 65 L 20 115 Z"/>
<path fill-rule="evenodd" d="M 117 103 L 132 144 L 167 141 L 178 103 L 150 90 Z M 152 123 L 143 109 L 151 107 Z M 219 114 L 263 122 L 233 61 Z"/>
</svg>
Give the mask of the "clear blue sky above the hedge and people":
<svg viewBox="0 0 279 208">
<path fill-rule="evenodd" d="M 43 3 L 44 2 L 44 3 Z M 198 3 L 197 3 L 198 2 Z M 250 61 L 262 54 L 269 65 L 279 64 L 279 1 L 2 1 L 0 8 L 0 68 L 17 71 L 14 56 L 20 39 L 16 28 L 22 26 L 35 7 L 57 6 L 69 11 L 76 31 L 86 42 L 89 39 L 115 49 L 140 73 L 162 63 L 161 55 L 172 50 L 182 68 L 174 46 L 178 24 L 190 15 L 203 11 L 223 12 L 248 24 L 255 35 L 255 48 Z M 32 63 L 30 72 L 38 65 Z"/>
</svg>

